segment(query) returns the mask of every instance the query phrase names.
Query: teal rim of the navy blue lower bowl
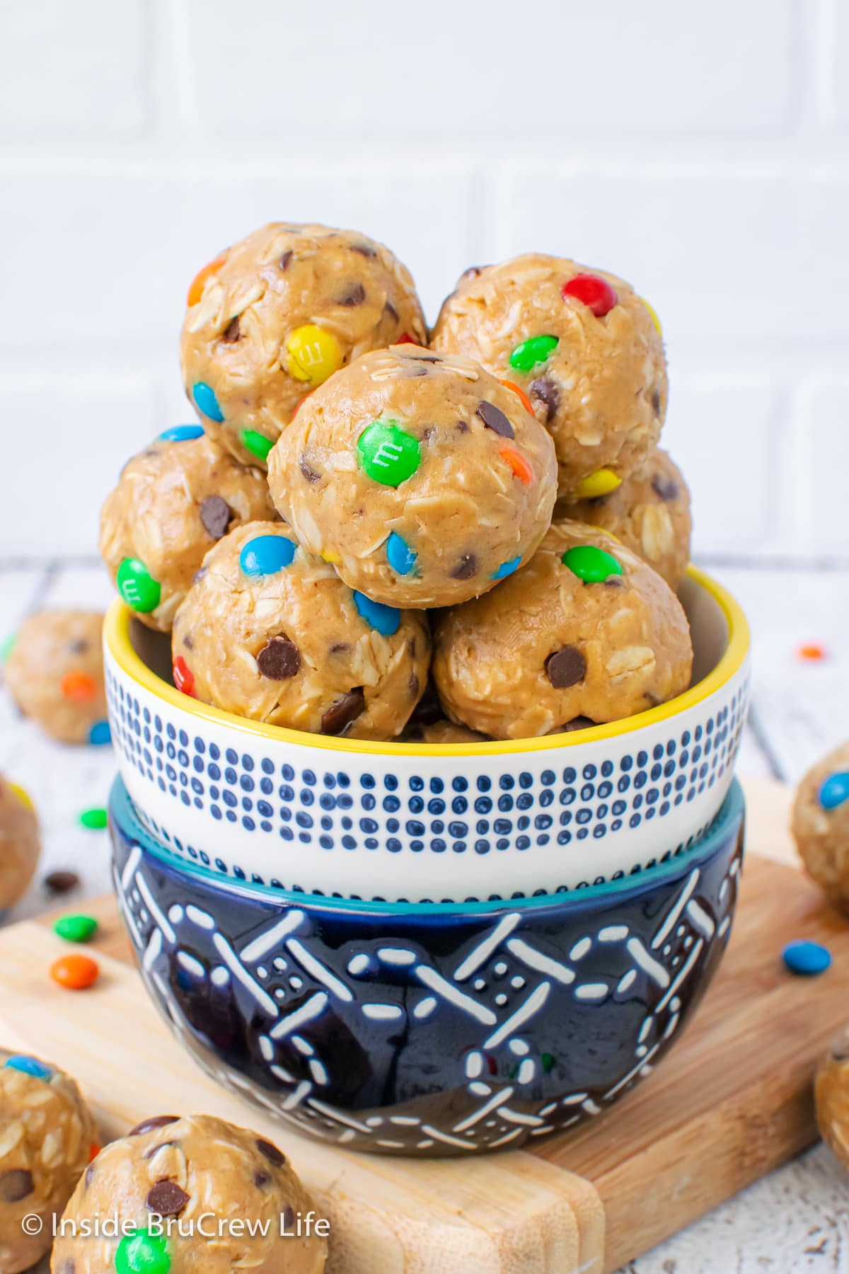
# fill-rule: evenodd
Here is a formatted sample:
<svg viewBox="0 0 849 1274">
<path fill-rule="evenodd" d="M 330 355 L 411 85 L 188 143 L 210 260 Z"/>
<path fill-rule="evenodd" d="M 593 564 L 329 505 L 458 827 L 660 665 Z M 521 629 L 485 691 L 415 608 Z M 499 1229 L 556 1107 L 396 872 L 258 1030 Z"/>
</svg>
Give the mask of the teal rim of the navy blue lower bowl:
<svg viewBox="0 0 849 1274">
<path fill-rule="evenodd" d="M 722 841 L 728 836 L 737 836 L 740 832 L 746 801 L 743 790 L 736 778 L 732 780 L 728 795 L 726 796 L 719 813 L 710 824 L 705 834 L 698 840 L 689 850 L 673 855 L 668 862 L 658 862 L 653 868 L 644 868 L 634 875 L 621 877 L 619 880 L 606 880 L 603 884 L 592 884 L 582 889 L 564 889 L 560 893 L 532 894 L 524 898 L 485 898 L 480 902 L 369 902 L 359 898 L 332 898 L 323 893 L 300 893 L 294 889 L 276 889 L 266 884 L 256 884 L 249 880 L 235 880 L 233 877 L 221 875 L 200 862 L 187 860 L 173 850 L 169 850 L 143 826 L 123 781 L 117 777 L 109 794 L 109 817 L 115 819 L 122 833 L 155 859 L 160 859 L 165 866 L 171 866 L 186 875 L 199 877 L 228 893 L 241 897 L 265 898 L 271 902 L 283 902 L 294 907 L 308 907 L 311 911 L 344 911 L 368 915 L 402 915 L 402 916 L 438 916 L 438 915 L 476 915 L 481 912 L 495 912 L 517 910 L 533 910 L 542 907 L 563 907 L 568 903 L 583 903 L 586 899 L 601 898 L 606 894 L 625 893 L 628 891 L 642 889 L 645 885 L 661 884 L 671 877 L 682 875 L 685 871 L 698 866 L 710 859 Z"/>
</svg>

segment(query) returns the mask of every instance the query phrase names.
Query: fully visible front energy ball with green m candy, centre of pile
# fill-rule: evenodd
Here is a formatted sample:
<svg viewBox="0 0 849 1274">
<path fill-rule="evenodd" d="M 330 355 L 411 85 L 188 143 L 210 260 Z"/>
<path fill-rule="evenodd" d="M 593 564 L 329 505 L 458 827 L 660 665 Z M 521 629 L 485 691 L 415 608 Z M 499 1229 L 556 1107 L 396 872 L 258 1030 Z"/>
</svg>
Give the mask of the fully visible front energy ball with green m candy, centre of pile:
<svg viewBox="0 0 849 1274">
<path fill-rule="evenodd" d="M 386 605 L 475 598 L 531 557 L 554 507 L 551 438 L 522 395 L 462 355 L 364 354 L 271 452 L 284 520 Z"/>
</svg>

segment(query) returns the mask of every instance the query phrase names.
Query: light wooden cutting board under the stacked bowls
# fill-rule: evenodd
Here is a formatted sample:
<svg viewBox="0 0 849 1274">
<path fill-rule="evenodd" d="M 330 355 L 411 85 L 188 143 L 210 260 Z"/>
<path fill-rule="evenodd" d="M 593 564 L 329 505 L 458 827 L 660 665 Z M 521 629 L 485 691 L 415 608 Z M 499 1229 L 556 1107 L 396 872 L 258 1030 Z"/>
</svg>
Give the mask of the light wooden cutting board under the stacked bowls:
<svg viewBox="0 0 849 1274">
<path fill-rule="evenodd" d="M 328 1274 L 603 1274 L 653 1247 L 816 1139 L 811 1079 L 849 1018 L 849 924 L 794 865 L 789 794 L 750 782 L 748 857 L 731 945 L 668 1059 L 607 1115 L 533 1150 L 416 1162 L 303 1139 L 196 1069 L 148 1000 L 111 898 L 102 977 L 47 977 L 50 920 L 0 931 L 0 1041 L 76 1075 L 104 1136 L 145 1115 L 209 1112 L 280 1142 L 331 1222 Z M 790 938 L 830 948 L 794 978 Z"/>
</svg>

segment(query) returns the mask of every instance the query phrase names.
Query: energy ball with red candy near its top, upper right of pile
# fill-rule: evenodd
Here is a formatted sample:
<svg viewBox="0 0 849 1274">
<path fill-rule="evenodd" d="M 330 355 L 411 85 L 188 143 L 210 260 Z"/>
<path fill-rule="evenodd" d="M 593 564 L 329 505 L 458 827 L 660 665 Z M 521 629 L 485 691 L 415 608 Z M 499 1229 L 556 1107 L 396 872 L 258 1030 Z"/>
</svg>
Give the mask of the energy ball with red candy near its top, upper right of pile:
<svg viewBox="0 0 849 1274">
<path fill-rule="evenodd" d="M 561 499 L 615 490 L 657 443 L 663 340 L 654 312 L 612 274 L 537 252 L 467 270 L 432 345 L 476 358 L 528 395 L 558 448 Z"/>
</svg>

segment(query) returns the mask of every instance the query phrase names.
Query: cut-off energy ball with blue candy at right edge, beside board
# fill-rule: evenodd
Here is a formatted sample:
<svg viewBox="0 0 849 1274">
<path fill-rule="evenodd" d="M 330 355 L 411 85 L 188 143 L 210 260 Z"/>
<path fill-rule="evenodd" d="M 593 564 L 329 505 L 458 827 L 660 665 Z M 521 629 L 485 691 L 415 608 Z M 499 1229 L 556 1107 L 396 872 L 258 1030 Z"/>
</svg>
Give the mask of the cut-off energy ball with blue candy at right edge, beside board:
<svg viewBox="0 0 849 1274">
<path fill-rule="evenodd" d="M 817 762 L 799 784 L 792 829 L 816 883 L 849 915 L 849 743 Z"/>
</svg>

